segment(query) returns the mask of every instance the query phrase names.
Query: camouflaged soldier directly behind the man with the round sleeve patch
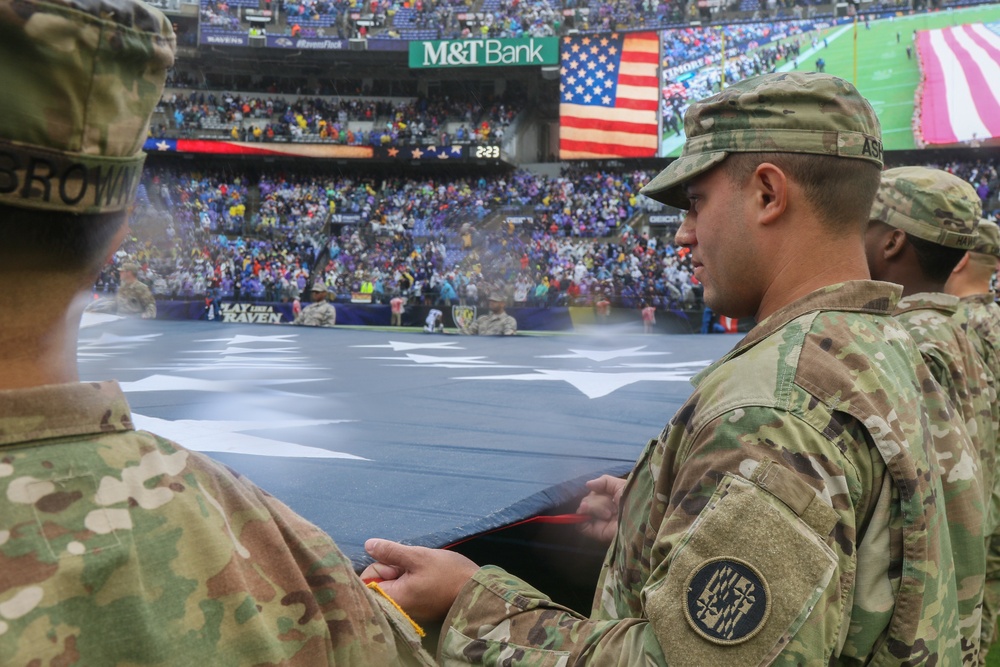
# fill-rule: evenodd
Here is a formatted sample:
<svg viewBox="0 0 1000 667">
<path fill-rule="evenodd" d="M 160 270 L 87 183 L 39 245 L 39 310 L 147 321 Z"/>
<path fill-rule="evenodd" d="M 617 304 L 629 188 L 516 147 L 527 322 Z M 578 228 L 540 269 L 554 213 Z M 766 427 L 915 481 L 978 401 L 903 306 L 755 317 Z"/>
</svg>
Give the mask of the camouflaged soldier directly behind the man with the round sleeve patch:
<svg viewBox="0 0 1000 667">
<path fill-rule="evenodd" d="M 987 500 L 992 495 L 1000 412 L 993 374 L 976 354 L 965 310 L 959 308 L 958 297 L 945 293 L 945 283 L 975 244 L 980 213 L 979 196 L 962 179 L 940 169 L 899 167 L 882 174 L 865 234 L 872 278 L 903 286 L 893 314 L 962 415 L 976 452 L 966 458 L 938 458 L 955 570 L 965 582 L 958 591 L 959 612 L 969 654 L 980 647 L 983 591 L 973 582 L 985 577 L 985 540 L 994 528 Z M 967 481 L 975 481 L 983 494 L 983 502 L 974 503 L 976 513 L 985 517 L 979 530 L 957 506 L 970 491 Z M 983 547 L 978 546 L 980 540 Z"/>
</svg>

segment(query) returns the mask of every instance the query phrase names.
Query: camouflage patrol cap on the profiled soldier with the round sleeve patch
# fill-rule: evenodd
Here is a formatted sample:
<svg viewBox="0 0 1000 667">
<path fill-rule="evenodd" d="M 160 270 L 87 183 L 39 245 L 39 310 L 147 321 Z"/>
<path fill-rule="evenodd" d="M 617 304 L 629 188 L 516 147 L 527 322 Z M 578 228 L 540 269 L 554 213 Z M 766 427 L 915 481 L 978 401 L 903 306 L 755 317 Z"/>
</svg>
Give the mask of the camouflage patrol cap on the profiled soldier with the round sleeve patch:
<svg viewBox="0 0 1000 667">
<path fill-rule="evenodd" d="M 818 72 L 765 74 L 688 107 L 681 156 L 641 192 L 687 209 L 683 185 L 731 153 L 810 153 L 882 167 L 875 111 L 847 81 Z"/>
</svg>

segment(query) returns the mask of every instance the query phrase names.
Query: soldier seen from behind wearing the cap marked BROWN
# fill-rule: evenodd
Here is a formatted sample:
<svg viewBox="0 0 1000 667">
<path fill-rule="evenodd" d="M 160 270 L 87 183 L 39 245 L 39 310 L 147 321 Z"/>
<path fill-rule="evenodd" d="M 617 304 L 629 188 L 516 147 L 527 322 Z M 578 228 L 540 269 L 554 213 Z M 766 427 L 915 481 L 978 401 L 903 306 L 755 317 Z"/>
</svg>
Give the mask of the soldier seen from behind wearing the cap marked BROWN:
<svg viewBox="0 0 1000 667">
<path fill-rule="evenodd" d="M 79 382 L 174 44 L 135 0 L 0 0 L 0 665 L 433 664 L 327 535 Z"/>
</svg>

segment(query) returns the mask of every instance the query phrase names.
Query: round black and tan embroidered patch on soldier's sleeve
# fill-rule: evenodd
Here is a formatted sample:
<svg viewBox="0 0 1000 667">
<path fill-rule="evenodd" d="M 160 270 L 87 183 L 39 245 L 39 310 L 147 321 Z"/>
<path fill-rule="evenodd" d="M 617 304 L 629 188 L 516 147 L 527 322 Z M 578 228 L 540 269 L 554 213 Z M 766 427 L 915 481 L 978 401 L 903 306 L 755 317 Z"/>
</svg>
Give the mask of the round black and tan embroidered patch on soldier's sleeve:
<svg viewBox="0 0 1000 667">
<path fill-rule="evenodd" d="M 763 575 L 738 558 L 713 558 L 692 571 L 685 585 L 684 616 L 708 641 L 741 644 L 760 632 L 771 613 Z"/>
</svg>

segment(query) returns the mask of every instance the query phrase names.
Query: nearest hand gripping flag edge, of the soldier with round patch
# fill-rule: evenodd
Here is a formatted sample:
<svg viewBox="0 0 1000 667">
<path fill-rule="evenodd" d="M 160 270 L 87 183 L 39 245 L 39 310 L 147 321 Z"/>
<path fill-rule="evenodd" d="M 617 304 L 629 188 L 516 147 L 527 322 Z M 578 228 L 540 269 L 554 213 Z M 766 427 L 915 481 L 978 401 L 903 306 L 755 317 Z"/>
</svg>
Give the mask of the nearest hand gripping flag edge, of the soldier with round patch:
<svg viewBox="0 0 1000 667">
<path fill-rule="evenodd" d="M 379 586 L 418 621 L 440 621 L 479 566 L 443 549 L 410 547 L 390 540 L 368 540 L 375 560 L 362 579 L 381 579 Z"/>
</svg>

